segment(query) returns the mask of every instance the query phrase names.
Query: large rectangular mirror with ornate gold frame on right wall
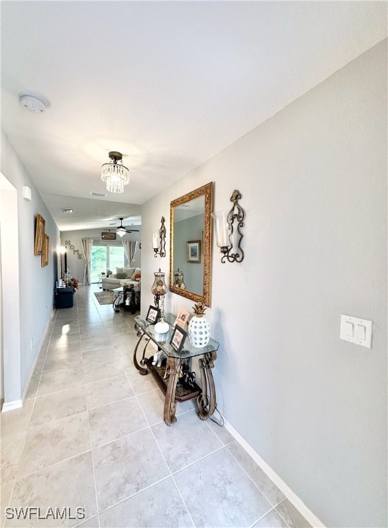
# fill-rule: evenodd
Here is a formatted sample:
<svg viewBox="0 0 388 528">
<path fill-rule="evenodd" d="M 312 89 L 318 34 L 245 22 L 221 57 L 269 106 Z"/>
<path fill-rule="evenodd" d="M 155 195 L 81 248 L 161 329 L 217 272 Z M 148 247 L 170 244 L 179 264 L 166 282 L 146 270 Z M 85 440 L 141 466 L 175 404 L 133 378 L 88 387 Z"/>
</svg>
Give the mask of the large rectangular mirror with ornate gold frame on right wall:
<svg viewBox="0 0 388 528">
<path fill-rule="evenodd" d="M 171 201 L 170 291 L 211 305 L 213 181 Z"/>
</svg>

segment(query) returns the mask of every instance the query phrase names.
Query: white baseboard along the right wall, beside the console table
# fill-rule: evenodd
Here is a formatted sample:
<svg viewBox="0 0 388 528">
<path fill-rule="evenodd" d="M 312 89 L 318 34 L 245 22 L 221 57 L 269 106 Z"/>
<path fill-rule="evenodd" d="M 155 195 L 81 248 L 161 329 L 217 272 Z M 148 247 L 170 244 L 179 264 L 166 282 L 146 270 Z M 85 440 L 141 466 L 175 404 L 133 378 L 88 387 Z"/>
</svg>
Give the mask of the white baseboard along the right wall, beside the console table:
<svg viewBox="0 0 388 528">
<path fill-rule="evenodd" d="M 308 507 L 303 503 L 303 500 L 297 496 L 296 493 L 292 491 L 290 487 L 280 478 L 280 476 L 272 470 L 272 467 L 264 461 L 259 454 L 249 445 L 249 443 L 241 437 L 241 434 L 235 430 L 235 428 L 230 425 L 228 420 L 224 418 L 225 421 L 225 428 L 230 432 L 230 434 L 235 437 L 237 442 L 241 445 L 244 450 L 249 454 L 249 456 L 252 457 L 252 459 L 261 467 L 263 472 L 271 479 L 271 481 L 279 487 L 280 491 L 285 495 L 288 500 L 290 500 L 290 503 L 294 505 L 294 507 L 297 508 L 299 513 L 303 515 L 303 517 L 310 522 L 310 525 L 314 526 L 314 528 L 326 528 L 323 522 L 310 510 Z"/>
</svg>

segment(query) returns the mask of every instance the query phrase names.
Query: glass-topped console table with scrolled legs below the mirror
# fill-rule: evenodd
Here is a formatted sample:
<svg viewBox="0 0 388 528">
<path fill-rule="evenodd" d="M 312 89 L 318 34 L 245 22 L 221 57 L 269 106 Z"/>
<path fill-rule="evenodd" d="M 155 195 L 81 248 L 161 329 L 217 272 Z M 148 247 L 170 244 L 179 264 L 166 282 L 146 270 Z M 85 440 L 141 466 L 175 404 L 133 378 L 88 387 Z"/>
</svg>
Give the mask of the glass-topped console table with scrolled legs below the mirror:
<svg viewBox="0 0 388 528">
<path fill-rule="evenodd" d="M 164 318 L 169 323 L 169 331 L 166 333 L 155 332 L 155 326 L 148 322 L 143 315 L 134 318 L 135 329 L 139 340 L 133 351 L 133 364 L 141 375 L 151 373 L 158 383 L 158 386 L 162 389 L 165 395 L 163 417 L 164 423 L 167 426 L 172 426 L 177 421 L 175 417 L 176 402 L 195 397 L 197 397 L 197 403 L 200 409 L 197 413 L 198 417 L 206 420 L 215 411 L 215 384 L 211 369 L 213 369 L 214 362 L 217 359 L 219 344 L 217 341 L 211 339 L 206 347 L 197 349 L 193 347 L 187 336 L 182 350 L 177 352 L 170 344 L 175 316 L 173 314 L 164 314 Z M 166 366 L 153 365 L 153 355 L 151 355 L 151 358 L 146 357 L 147 347 L 151 341 L 158 347 L 158 351 L 162 351 L 166 355 Z M 143 342 L 144 349 L 142 351 L 142 358 L 138 362 L 137 353 L 140 342 Z M 197 356 L 201 356 L 198 364 L 200 366 L 202 388 L 196 384 L 192 389 L 184 388 L 178 381 L 182 362 Z"/>
</svg>

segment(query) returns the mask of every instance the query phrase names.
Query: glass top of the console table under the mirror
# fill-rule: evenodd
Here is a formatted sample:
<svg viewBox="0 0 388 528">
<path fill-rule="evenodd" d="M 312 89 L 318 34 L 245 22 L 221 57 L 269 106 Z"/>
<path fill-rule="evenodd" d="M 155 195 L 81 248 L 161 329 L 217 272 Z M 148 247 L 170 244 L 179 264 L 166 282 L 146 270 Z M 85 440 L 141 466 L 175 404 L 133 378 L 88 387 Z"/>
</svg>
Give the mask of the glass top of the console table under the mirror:
<svg viewBox="0 0 388 528">
<path fill-rule="evenodd" d="M 157 333 L 155 332 L 155 326 L 153 323 L 146 320 L 146 315 L 141 314 L 136 316 L 133 320 L 139 325 L 139 327 L 144 330 L 144 332 L 151 338 L 151 340 L 160 348 L 162 351 L 169 356 L 169 358 L 193 358 L 195 355 L 202 355 L 206 352 L 214 352 L 218 350 L 219 343 L 211 339 L 206 347 L 197 349 L 193 347 L 188 336 L 184 340 L 182 350 L 177 352 L 171 347 L 170 340 L 173 335 L 174 322 L 176 317 L 173 314 L 164 314 L 164 319 L 169 323 L 169 331 L 166 333 Z M 184 329 L 187 332 L 187 329 Z"/>
</svg>

